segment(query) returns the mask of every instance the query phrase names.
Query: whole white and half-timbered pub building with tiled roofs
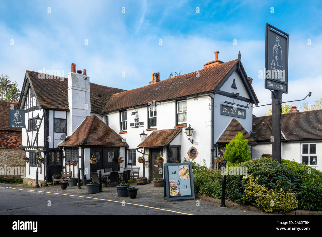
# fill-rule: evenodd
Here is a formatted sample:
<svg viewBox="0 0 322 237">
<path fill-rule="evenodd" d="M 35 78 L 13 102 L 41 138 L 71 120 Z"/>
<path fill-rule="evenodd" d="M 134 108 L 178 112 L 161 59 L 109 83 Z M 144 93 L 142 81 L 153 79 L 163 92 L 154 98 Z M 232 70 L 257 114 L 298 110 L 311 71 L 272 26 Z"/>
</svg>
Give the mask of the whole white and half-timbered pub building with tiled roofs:
<svg viewBox="0 0 322 237">
<path fill-rule="evenodd" d="M 213 166 L 220 148 L 238 132 L 252 153 L 252 106 L 259 103 L 252 79 L 240 53 L 226 63 L 218 59 L 219 51 L 214 54 L 196 72 L 165 80 L 153 73 L 148 85 L 132 90 L 90 83 L 86 70 L 76 72 L 75 64 L 68 78 L 26 71 L 18 104 L 25 111 L 22 148 L 29 157 L 24 186 L 34 185 L 36 150 L 44 158 L 38 163 L 39 184 L 62 171 L 77 177 L 81 169 L 89 180 L 99 169 L 126 167 L 140 168 L 139 176 L 153 182 L 164 176 L 165 163 L 185 157 Z M 139 163 L 143 154 L 146 160 Z M 159 156 L 164 163 L 156 162 Z M 91 157 L 96 164 L 90 164 Z"/>
</svg>

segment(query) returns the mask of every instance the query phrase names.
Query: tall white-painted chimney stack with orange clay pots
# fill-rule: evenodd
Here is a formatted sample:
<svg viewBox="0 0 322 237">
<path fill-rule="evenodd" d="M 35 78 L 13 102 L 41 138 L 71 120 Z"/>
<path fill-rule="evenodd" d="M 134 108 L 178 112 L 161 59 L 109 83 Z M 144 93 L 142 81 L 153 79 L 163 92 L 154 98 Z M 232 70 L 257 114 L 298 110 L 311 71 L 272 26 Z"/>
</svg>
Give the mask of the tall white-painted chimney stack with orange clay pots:
<svg viewBox="0 0 322 237">
<path fill-rule="evenodd" d="M 83 72 L 85 74 L 81 70 L 76 73 L 76 65 L 71 64 L 71 72 L 68 74 L 68 136 L 90 115 L 90 77 L 86 75 L 86 70 Z"/>
</svg>

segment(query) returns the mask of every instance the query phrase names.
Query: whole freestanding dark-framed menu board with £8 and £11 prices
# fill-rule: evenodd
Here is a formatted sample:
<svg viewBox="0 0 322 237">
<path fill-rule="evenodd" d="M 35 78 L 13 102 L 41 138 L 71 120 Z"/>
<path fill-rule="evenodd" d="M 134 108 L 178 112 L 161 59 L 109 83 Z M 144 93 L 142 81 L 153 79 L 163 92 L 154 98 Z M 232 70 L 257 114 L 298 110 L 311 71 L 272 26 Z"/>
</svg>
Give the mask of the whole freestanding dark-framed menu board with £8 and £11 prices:
<svg viewBox="0 0 322 237">
<path fill-rule="evenodd" d="M 166 200 L 195 199 L 192 163 L 166 163 L 165 194 Z"/>
</svg>

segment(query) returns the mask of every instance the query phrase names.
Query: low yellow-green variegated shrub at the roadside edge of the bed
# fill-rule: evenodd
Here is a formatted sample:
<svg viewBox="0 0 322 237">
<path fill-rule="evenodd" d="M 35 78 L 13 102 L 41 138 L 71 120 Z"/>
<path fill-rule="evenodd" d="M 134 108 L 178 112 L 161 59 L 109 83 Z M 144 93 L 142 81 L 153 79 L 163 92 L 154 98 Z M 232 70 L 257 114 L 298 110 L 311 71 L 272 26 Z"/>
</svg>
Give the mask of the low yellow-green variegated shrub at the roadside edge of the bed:
<svg viewBox="0 0 322 237">
<path fill-rule="evenodd" d="M 245 199 L 252 202 L 258 208 L 265 212 L 273 212 L 274 210 L 280 212 L 289 212 L 298 207 L 298 201 L 296 199 L 297 194 L 291 192 L 274 192 L 273 189 L 268 189 L 264 185 L 259 184 L 259 178 L 254 180 L 251 174 L 247 175 L 245 179 Z"/>
</svg>

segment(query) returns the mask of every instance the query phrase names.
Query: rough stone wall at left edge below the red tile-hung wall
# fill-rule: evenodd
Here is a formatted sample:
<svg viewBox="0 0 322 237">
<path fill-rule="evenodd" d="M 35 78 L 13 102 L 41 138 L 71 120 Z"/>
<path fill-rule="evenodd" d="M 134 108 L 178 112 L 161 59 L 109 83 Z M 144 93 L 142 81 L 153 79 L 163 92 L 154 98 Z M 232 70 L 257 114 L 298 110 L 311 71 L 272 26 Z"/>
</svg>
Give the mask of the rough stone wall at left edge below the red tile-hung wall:
<svg viewBox="0 0 322 237">
<path fill-rule="evenodd" d="M 0 183 L 22 183 L 26 167 L 22 158 L 25 155 L 21 149 L 0 149 Z"/>
</svg>

